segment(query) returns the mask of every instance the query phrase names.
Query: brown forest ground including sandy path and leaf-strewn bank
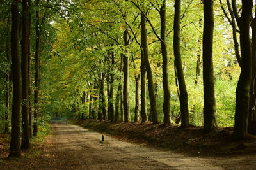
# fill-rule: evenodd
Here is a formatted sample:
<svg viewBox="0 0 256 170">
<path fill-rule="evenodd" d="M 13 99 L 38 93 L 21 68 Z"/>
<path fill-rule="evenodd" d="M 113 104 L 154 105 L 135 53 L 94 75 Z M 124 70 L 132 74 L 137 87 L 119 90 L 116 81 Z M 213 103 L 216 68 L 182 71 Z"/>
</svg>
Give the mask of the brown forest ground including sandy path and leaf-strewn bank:
<svg viewBox="0 0 256 170">
<path fill-rule="evenodd" d="M 22 159 L 6 159 L 10 138 L 0 134 L 0 169 L 256 167 L 256 138 L 250 136 L 245 141 L 231 141 L 232 129 L 228 128 L 204 134 L 201 127 L 180 129 L 150 122 L 112 124 L 80 121 L 76 124 L 87 129 L 65 122 L 52 122 L 50 135 L 43 143 L 24 152 Z"/>
</svg>

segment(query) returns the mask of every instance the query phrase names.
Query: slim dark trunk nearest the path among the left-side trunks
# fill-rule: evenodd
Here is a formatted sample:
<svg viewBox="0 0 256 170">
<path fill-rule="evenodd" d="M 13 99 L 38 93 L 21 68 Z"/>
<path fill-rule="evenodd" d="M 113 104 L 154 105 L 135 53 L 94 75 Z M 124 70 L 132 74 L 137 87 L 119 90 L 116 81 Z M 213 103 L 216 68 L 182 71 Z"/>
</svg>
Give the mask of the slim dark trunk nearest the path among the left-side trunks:
<svg viewBox="0 0 256 170">
<path fill-rule="evenodd" d="M 40 50 L 40 24 L 39 24 L 39 0 L 36 0 L 36 50 L 35 50 L 35 90 L 34 90 L 34 124 L 33 136 L 37 136 L 38 132 L 38 92 L 39 92 L 39 50 Z"/>
</svg>

